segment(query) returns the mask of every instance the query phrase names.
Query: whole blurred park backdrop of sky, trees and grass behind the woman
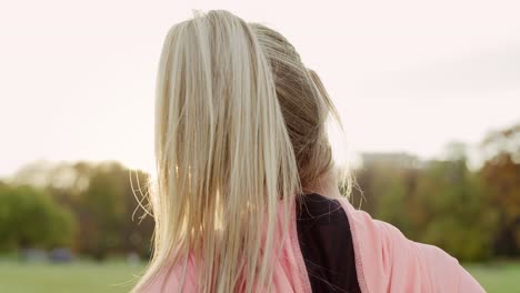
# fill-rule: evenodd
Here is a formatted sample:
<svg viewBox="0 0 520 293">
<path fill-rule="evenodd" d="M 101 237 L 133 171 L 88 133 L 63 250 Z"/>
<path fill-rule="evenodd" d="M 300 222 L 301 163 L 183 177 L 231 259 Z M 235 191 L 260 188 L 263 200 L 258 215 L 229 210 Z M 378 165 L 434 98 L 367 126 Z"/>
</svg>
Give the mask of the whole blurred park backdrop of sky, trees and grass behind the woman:
<svg viewBox="0 0 520 293">
<path fill-rule="evenodd" d="M 159 54 L 192 9 L 279 30 L 321 75 L 356 206 L 520 290 L 518 1 L 21 0 L 0 4 L 0 292 L 131 289 Z"/>
</svg>

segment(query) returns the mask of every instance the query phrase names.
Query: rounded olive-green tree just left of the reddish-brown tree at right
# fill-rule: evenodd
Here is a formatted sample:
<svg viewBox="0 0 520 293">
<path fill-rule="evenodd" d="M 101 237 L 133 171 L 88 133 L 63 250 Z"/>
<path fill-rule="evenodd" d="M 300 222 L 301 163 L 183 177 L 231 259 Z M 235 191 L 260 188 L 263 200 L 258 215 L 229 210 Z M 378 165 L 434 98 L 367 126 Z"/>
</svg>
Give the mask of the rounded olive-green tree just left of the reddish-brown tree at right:
<svg viewBox="0 0 520 293">
<path fill-rule="evenodd" d="M 419 241 L 463 261 L 491 256 L 497 211 L 490 209 L 478 176 L 464 159 L 437 161 L 422 170 L 413 198 L 423 214 Z"/>
</svg>

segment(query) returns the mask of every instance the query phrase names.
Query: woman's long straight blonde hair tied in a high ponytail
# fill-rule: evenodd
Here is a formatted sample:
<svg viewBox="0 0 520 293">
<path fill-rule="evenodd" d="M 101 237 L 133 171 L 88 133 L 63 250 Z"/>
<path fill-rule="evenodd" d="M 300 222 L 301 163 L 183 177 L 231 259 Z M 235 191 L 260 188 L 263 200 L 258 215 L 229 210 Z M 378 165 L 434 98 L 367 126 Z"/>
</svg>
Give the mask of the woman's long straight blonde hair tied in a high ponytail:
<svg viewBox="0 0 520 293">
<path fill-rule="evenodd" d="M 269 291 L 279 205 L 288 215 L 332 168 L 331 113 L 280 33 L 227 11 L 172 27 L 157 79 L 154 250 L 134 292 L 188 255 L 200 292 Z"/>
</svg>

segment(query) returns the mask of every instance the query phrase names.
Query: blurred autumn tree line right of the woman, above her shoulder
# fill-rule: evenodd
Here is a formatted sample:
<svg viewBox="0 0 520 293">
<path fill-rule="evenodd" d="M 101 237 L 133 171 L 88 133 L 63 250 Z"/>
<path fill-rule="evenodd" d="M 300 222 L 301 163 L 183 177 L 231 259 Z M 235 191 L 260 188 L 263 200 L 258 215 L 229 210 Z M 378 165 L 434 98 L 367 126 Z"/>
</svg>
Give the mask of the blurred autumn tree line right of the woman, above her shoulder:
<svg viewBox="0 0 520 293">
<path fill-rule="evenodd" d="M 353 201 L 409 239 L 438 245 L 462 261 L 520 256 L 520 124 L 489 134 L 484 162 L 468 168 L 464 146 L 444 160 L 364 154 Z"/>
</svg>

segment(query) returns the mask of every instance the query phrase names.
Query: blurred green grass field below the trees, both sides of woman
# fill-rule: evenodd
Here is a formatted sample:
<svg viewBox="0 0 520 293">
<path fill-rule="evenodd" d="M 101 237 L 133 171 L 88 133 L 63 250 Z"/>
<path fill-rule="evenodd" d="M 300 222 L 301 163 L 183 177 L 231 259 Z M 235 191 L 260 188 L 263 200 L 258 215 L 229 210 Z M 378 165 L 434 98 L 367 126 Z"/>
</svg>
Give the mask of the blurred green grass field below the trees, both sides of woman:
<svg viewBox="0 0 520 293">
<path fill-rule="evenodd" d="M 117 293 L 128 292 L 142 265 L 123 262 L 24 264 L 0 261 L 0 292 Z M 467 265 L 488 292 L 520 292 L 520 262 Z"/>
</svg>

